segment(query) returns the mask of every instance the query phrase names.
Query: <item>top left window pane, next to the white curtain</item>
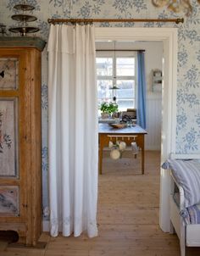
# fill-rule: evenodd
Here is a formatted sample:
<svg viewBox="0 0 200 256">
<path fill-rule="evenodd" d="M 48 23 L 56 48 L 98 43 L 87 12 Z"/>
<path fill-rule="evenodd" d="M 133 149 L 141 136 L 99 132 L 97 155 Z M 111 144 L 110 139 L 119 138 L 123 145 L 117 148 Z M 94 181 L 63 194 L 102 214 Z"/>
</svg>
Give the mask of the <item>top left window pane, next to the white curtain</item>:
<svg viewBox="0 0 200 256">
<path fill-rule="evenodd" d="M 96 58 L 97 75 L 113 75 L 113 58 Z"/>
</svg>

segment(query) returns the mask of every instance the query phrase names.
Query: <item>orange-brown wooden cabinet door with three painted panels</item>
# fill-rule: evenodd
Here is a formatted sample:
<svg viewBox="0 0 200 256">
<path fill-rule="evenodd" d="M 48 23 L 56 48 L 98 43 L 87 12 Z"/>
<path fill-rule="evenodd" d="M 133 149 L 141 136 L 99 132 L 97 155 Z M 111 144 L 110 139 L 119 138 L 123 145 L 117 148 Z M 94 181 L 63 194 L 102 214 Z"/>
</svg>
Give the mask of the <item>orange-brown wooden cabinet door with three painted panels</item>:
<svg viewBox="0 0 200 256">
<path fill-rule="evenodd" d="M 0 50 L 0 223 L 25 219 L 26 175 L 20 126 L 25 115 L 23 63 L 25 53 L 21 50 Z"/>
</svg>

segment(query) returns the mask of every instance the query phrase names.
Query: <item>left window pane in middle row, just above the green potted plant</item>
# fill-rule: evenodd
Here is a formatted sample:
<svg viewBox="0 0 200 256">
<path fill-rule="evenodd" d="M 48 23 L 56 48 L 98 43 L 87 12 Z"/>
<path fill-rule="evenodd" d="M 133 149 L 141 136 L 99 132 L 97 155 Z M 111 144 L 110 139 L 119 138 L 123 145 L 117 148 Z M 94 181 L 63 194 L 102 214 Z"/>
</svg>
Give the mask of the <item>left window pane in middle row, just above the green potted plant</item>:
<svg viewBox="0 0 200 256">
<path fill-rule="evenodd" d="M 97 93 L 100 100 L 106 100 L 112 97 L 112 80 L 97 80 Z"/>
</svg>

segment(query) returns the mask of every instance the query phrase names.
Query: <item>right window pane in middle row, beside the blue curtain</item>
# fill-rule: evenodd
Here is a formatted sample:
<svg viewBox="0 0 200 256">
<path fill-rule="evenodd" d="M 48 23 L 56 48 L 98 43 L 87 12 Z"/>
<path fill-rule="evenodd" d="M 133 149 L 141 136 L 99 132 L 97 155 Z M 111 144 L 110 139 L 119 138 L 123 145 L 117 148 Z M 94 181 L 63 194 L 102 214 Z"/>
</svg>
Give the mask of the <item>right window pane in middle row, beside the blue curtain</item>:
<svg viewBox="0 0 200 256">
<path fill-rule="evenodd" d="M 134 80 L 118 80 L 117 97 L 136 97 Z"/>
</svg>

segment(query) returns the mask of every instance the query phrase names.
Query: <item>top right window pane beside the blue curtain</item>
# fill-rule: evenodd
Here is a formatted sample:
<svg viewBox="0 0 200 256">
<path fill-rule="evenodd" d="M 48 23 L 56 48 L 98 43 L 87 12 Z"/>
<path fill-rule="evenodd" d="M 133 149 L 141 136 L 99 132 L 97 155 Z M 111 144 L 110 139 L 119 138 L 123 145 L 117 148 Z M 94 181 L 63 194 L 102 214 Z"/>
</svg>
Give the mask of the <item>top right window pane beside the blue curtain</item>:
<svg viewBox="0 0 200 256">
<path fill-rule="evenodd" d="M 135 75 L 135 58 L 117 58 L 117 75 Z"/>
</svg>

